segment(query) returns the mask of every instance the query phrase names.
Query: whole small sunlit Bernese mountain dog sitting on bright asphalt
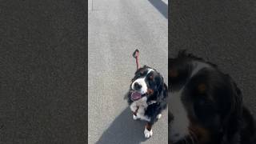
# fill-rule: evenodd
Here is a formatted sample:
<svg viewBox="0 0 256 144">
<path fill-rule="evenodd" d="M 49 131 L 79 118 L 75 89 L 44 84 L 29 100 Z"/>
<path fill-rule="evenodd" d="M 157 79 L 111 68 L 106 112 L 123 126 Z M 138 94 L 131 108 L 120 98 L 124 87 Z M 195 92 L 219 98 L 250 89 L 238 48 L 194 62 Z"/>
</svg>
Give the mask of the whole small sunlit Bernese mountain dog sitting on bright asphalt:
<svg viewBox="0 0 256 144">
<path fill-rule="evenodd" d="M 166 109 L 168 96 L 167 86 L 162 75 L 149 66 L 143 66 L 135 72 L 127 94 L 133 118 L 146 121 L 144 134 L 150 138 L 152 126 L 161 118 L 162 110 Z"/>
</svg>

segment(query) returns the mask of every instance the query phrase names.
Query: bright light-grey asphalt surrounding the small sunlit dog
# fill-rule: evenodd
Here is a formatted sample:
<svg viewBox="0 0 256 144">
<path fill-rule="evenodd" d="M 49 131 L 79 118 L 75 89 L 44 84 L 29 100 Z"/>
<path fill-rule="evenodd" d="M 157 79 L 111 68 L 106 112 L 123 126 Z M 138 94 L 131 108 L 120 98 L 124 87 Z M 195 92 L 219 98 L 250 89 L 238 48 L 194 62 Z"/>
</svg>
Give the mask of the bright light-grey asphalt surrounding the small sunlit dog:
<svg viewBox="0 0 256 144">
<path fill-rule="evenodd" d="M 146 139 L 145 122 L 134 121 L 124 99 L 140 64 L 152 66 L 167 81 L 167 4 L 159 0 L 89 1 L 88 143 L 167 143 L 167 111 Z"/>
</svg>

